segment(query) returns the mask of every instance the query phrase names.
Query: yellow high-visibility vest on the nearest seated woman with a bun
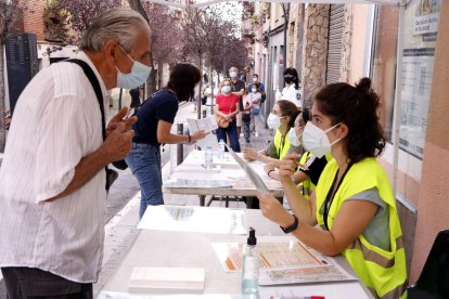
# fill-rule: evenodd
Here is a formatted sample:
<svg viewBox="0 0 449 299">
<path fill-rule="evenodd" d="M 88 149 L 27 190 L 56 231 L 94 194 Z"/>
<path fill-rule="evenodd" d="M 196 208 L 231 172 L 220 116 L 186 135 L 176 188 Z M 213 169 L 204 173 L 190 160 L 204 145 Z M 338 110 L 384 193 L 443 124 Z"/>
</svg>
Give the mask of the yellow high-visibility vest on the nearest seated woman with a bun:
<svg viewBox="0 0 449 299">
<path fill-rule="evenodd" d="M 316 188 L 317 220 L 324 227 L 323 205 L 332 186 L 338 166 L 328 161 Z M 352 165 L 338 187 L 329 210 L 328 225 L 332 229 L 341 206 L 346 198 L 360 192 L 377 188 L 389 212 L 389 251 L 370 244 L 360 234 L 342 253 L 363 284 L 380 298 L 407 298 L 406 251 L 396 202 L 388 178 L 375 158 L 365 158 Z"/>
</svg>

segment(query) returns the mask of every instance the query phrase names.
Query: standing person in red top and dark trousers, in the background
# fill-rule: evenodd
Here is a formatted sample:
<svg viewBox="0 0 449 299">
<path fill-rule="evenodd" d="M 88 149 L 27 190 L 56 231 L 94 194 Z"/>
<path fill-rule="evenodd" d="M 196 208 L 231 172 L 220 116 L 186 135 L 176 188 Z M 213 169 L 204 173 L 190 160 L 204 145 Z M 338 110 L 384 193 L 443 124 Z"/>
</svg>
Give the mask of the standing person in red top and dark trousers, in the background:
<svg viewBox="0 0 449 299">
<path fill-rule="evenodd" d="M 240 153 L 240 142 L 235 121 L 236 115 L 240 112 L 239 95 L 231 92 L 231 81 L 229 79 L 221 81 L 221 93 L 217 95 L 215 105 L 216 118 L 224 120 L 222 122 L 224 125 L 220 125 L 220 120 L 217 121 L 217 141 L 220 142 L 220 140 L 222 140 L 224 143 L 228 143 L 229 138 L 232 151 Z M 226 148 L 226 151 L 228 151 L 228 148 Z"/>
</svg>

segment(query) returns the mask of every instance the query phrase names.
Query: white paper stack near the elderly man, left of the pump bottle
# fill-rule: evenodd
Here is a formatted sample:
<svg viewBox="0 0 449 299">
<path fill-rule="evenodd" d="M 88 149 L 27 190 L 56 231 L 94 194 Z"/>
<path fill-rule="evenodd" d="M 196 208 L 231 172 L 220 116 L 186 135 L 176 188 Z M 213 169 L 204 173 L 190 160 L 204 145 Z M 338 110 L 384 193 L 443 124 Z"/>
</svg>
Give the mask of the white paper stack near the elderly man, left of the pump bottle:
<svg viewBox="0 0 449 299">
<path fill-rule="evenodd" d="M 129 291 L 138 292 L 202 292 L 203 268 L 138 268 L 129 280 Z"/>
</svg>

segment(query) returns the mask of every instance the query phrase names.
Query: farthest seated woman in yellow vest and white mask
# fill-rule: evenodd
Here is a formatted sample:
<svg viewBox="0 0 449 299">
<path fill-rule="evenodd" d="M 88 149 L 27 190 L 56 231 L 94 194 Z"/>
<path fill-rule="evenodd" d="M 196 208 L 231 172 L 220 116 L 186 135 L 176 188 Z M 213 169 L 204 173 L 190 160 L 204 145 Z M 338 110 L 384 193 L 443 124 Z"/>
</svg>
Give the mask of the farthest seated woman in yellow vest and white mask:
<svg viewBox="0 0 449 299">
<path fill-rule="evenodd" d="M 292 102 L 285 100 L 278 101 L 267 119 L 268 127 L 275 130 L 274 140 L 260 152 L 251 147 L 243 147 L 243 157 L 246 160 L 258 159 L 265 164 L 271 162 L 278 168 L 281 159 L 287 154 L 302 153 L 302 148 L 293 146 L 287 138 L 287 133 L 294 127 L 298 114 L 298 108 Z"/>
</svg>

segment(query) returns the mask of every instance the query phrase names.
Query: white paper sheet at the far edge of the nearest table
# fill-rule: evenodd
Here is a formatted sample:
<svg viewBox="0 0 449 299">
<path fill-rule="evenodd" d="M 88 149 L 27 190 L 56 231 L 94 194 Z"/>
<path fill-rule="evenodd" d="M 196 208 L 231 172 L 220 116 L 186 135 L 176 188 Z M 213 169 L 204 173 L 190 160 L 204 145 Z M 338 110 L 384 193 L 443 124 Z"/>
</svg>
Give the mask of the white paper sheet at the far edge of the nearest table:
<svg viewBox="0 0 449 299">
<path fill-rule="evenodd" d="M 246 219 L 240 209 L 149 206 L 138 229 L 245 235 Z"/>
</svg>

